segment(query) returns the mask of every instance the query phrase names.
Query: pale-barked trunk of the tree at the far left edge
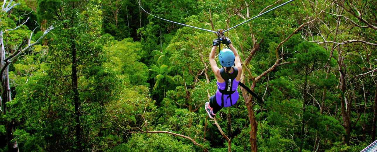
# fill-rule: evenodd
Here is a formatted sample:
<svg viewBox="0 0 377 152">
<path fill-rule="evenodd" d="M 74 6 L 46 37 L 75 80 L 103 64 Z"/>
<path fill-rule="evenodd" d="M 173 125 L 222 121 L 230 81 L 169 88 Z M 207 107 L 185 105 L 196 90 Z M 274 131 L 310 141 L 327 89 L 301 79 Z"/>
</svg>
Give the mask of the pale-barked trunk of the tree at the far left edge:
<svg viewBox="0 0 377 152">
<path fill-rule="evenodd" d="M 4 48 L 4 40 L 3 40 L 3 31 L 0 31 L 0 45 L 1 45 L 1 50 L 0 50 L 0 56 L 1 56 L 1 63 L 0 63 L 0 69 L 3 69 L 5 66 L 5 48 Z M 11 98 L 11 89 L 9 87 L 9 73 L 8 73 L 8 67 L 5 67 L 3 75 L 1 75 L 1 109 L 3 112 L 3 115 L 6 115 L 8 110 L 6 107 L 7 102 L 12 101 Z M 12 143 L 11 140 L 13 139 L 13 122 L 8 122 L 6 119 L 4 119 L 5 123 L 5 131 L 6 131 L 6 141 L 8 143 L 8 149 L 9 152 L 17 152 L 18 151 L 18 146 L 17 142 Z"/>
</svg>

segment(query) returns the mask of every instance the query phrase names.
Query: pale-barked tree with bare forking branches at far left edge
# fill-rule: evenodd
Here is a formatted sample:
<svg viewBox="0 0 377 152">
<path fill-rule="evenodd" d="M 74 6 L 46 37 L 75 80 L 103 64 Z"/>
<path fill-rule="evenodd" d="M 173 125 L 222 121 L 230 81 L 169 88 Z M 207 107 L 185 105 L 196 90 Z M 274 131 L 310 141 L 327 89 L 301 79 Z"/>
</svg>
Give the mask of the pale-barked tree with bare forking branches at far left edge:
<svg viewBox="0 0 377 152">
<path fill-rule="evenodd" d="M 31 38 L 27 38 L 26 35 L 21 34 L 21 32 L 31 33 L 30 37 L 32 36 L 33 32 L 29 31 L 25 26 L 23 26 L 28 20 L 26 19 L 23 23 L 19 23 L 16 25 L 11 18 L 8 17 L 7 12 L 11 11 L 12 8 L 21 4 L 21 3 L 12 3 L 10 1 L 8 5 L 6 5 L 6 0 L 4 0 L 0 20 L 2 21 L 1 30 L 0 30 L 0 45 L 2 46 L 0 49 L 0 83 L 2 87 L 1 92 L 1 101 L 0 101 L 0 111 L 2 111 L 2 115 L 6 116 L 7 112 L 10 112 L 12 109 L 8 106 L 8 102 L 12 101 L 11 96 L 11 89 L 9 86 L 9 65 L 14 62 L 15 59 L 23 55 L 26 51 L 32 48 L 35 44 L 37 44 L 40 39 L 44 37 L 53 27 L 49 27 L 46 31 L 44 31 L 43 35 L 37 39 L 35 42 L 31 42 Z M 21 15 L 22 16 L 22 15 Z M 14 17 L 11 15 L 11 17 Z M 21 17 L 19 17 L 21 18 Z M 20 30 L 19 28 L 23 28 Z M 4 41 L 4 34 L 9 32 L 9 37 L 12 41 L 10 41 L 8 45 L 8 41 Z M 6 36 L 6 35 L 5 35 Z M 8 36 L 6 36 L 8 37 Z M 27 45 L 25 45 L 27 44 Z M 6 47 L 5 47 L 6 46 Z M 17 46 L 17 47 L 16 47 Z M 11 49 L 11 47 L 16 47 L 15 49 Z M 7 50 L 5 50 L 5 48 Z M 17 141 L 13 140 L 13 122 L 11 119 L 4 120 L 5 123 L 5 130 L 6 130 L 6 141 L 8 143 L 8 150 L 10 151 L 18 151 Z"/>
</svg>

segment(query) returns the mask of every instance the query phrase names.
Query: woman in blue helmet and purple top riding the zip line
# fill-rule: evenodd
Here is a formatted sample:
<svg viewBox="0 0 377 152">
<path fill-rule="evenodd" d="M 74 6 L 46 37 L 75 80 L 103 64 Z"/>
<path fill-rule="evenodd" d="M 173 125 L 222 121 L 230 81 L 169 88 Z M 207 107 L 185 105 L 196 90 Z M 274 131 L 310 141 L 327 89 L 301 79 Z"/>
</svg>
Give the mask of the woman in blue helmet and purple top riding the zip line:
<svg viewBox="0 0 377 152">
<path fill-rule="evenodd" d="M 213 40 L 213 47 L 210 53 L 210 65 L 217 79 L 216 94 L 211 96 L 210 102 L 205 102 L 205 111 L 207 111 L 211 119 L 214 119 L 216 113 L 223 107 L 230 107 L 236 104 L 239 97 L 237 88 L 241 78 L 242 65 L 230 39 L 226 38 L 226 42 L 229 44 L 230 49 L 225 48 L 219 53 L 219 61 L 223 66 L 222 68 L 218 68 L 215 61 L 215 52 L 217 45 L 220 44 L 220 39 Z"/>
</svg>

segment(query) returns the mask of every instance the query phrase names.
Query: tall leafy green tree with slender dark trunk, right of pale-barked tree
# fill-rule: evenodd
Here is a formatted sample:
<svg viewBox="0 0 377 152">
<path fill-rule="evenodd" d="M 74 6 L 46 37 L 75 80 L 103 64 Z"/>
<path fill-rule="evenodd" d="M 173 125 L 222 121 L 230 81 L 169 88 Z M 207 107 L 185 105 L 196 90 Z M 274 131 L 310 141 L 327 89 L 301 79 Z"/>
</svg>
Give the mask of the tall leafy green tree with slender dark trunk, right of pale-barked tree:
<svg viewBox="0 0 377 152">
<path fill-rule="evenodd" d="M 38 1 L 38 17 L 58 27 L 50 45 L 50 69 L 48 82 L 56 84 L 49 90 L 50 95 L 66 96 L 54 99 L 58 102 L 71 102 L 67 108 L 70 116 L 64 117 L 64 124 L 74 129 L 65 149 L 83 151 L 96 142 L 89 132 L 102 122 L 103 105 L 111 100 L 111 91 L 116 86 L 115 75 L 102 67 L 105 56 L 99 44 L 101 33 L 101 11 L 96 2 L 85 1 Z M 64 75 L 62 77 L 62 75 Z M 70 110 L 73 109 L 73 110 Z M 74 119 L 72 119 L 74 118 Z M 74 126 L 74 128 L 71 128 Z"/>
</svg>

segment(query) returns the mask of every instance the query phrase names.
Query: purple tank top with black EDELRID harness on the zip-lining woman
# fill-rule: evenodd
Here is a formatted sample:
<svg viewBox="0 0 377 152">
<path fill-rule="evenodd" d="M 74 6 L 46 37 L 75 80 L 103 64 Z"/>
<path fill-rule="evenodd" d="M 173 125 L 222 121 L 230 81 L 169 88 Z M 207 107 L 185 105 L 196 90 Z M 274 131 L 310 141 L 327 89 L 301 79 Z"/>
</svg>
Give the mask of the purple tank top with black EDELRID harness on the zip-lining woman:
<svg viewBox="0 0 377 152">
<path fill-rule="evenodd" d="M 225 81 L 223 83 L 217 82 L 216 102 L 221 107 L 230 107 L 236 104 L 239 94 L 237 91 L 239 81 L 236 81 L 238 75 L 237 68 L 233 68 L 233 72 L 227 74 L 224 68 L 220 69 L 221 78 Z"/>
</svg>

